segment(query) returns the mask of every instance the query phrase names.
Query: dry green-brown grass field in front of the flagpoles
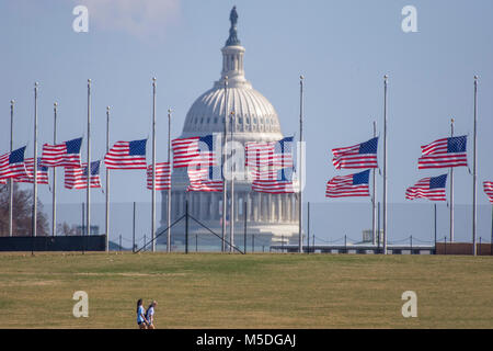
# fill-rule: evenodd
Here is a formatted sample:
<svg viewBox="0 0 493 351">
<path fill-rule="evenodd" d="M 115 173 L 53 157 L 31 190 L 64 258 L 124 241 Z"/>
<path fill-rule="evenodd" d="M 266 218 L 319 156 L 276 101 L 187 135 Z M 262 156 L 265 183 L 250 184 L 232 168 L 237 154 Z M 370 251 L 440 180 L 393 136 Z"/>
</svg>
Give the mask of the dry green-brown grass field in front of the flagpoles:
<svg viewBox="0 0 493 351">
<path fill-rule="evenodd" d="M 493 328 L 493 258 L 1 253 L 0 328 Z M 404 291 L 417 318 L 403 318 Z M 89 294 L 74 318 L 73 292 Z"/>
</svg>

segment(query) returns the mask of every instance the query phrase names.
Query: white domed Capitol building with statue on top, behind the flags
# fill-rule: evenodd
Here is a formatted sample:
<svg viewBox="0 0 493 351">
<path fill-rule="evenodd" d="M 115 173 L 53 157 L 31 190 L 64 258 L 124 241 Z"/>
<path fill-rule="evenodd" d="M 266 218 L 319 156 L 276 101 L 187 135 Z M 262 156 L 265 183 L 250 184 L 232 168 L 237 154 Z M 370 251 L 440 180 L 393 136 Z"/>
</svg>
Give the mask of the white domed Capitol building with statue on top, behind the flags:
<svg viewBox="0 0 493 351">
<path fill-rule="evenodd" d="M 228 122 L 228 137 L 232 120 L 233 139 L 243 146 L 246 141 L 276 141 L 284 136 L 280 132 L 279 117 L 272 103 L 252 87 L 246 80 L 244 71 L 245 48 L 241 45 L 237 34 L 238 14 L 236 8 L 231 10 L 229 37 L 221 48 L 222 70 L 220 79 L 214 82 L 211 89 L 199 95 L 186 114 L 181 138 L 222 134 L 225 122 Z M 228 80 L 225 109 L 225 80 Z M 229 111 L 227 113 L 227 111 Z M 233 112 L 234 118 L 230 118 Z M 225 114 L 228 120 L 225 118 Z M 222 192 L 187 192 L 188 177 L 185 168 L 175 168 L 172 173 L 171 193 L 171 223 L 185 214 L 185 202 L 188 201 L 188 213 L 194 218 L 206 225 L 213 231 L 221 235 Z M 227 182 L 227 235 L 231 218 L 229 218 L 230 182 Z M 168 226 L 167 214 L 168 192 L 162 192 L 161 233 Z M 234 245 L 243 247 L 243 229 L 246 219 L 249 237 L 255 236 L 259 244 L 297 244 L 298 242 L 298 195 L 296 193 L 267 194 L 252 190 L 251 180 L 245 177 L 234 178 Z M 246 218 L 244 214 L 246 203 Z M 181 220 L 171 229 L 172 245 L 184 242 L 184 220 Z M 188 225 L 190 244 L 194 245 L 195 238 L 216 238 L 208 230 L 193 220 Z M 165 245 L 167 235 L 158 238 L 158 245 Z M 249 247 L 250 250 L 250 247 Z"/>
</svg>

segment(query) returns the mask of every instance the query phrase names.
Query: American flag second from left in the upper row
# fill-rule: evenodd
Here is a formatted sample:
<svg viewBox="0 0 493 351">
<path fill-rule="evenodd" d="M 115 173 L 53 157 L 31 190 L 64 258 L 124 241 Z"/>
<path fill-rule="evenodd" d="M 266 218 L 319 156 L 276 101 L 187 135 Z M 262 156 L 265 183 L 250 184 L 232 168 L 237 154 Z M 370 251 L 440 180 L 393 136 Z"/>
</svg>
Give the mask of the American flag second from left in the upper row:
<svg viewBox="0 0 493 351">
<path fill-rule="evenodd" d="M 43 145 L 42 165 L 45 167 L 80 167 L 82 138 L 57 145 Z"/>
</svg>

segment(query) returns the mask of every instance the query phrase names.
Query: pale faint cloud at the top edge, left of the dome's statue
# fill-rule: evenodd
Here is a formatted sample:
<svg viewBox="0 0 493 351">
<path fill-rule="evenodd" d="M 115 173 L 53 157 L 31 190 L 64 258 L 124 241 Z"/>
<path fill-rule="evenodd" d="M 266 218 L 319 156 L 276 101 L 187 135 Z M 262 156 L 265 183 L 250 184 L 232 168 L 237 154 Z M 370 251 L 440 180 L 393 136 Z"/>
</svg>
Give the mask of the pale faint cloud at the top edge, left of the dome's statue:
<svg viewBox="0 0 493 351">
<path fill-rule="evenodd" d="M 181 18 L 181 0 L 73 0 L 89 10 L 89 29 L 161 36 Z"/>
</svg>

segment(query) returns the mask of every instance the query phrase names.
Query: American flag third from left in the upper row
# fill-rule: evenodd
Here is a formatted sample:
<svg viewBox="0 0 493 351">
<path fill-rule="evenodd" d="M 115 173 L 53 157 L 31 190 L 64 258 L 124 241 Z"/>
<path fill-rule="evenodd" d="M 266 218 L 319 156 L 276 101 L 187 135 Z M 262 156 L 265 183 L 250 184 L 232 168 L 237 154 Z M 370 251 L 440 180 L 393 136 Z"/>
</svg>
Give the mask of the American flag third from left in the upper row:
<svg viewBox="0 0 493 351">
<path fill-rule="evenodd" d="M 104 166 L 108 169 L 147 169 L 147 139 L 116 141 L 104 156 Z"/>
</svg>

